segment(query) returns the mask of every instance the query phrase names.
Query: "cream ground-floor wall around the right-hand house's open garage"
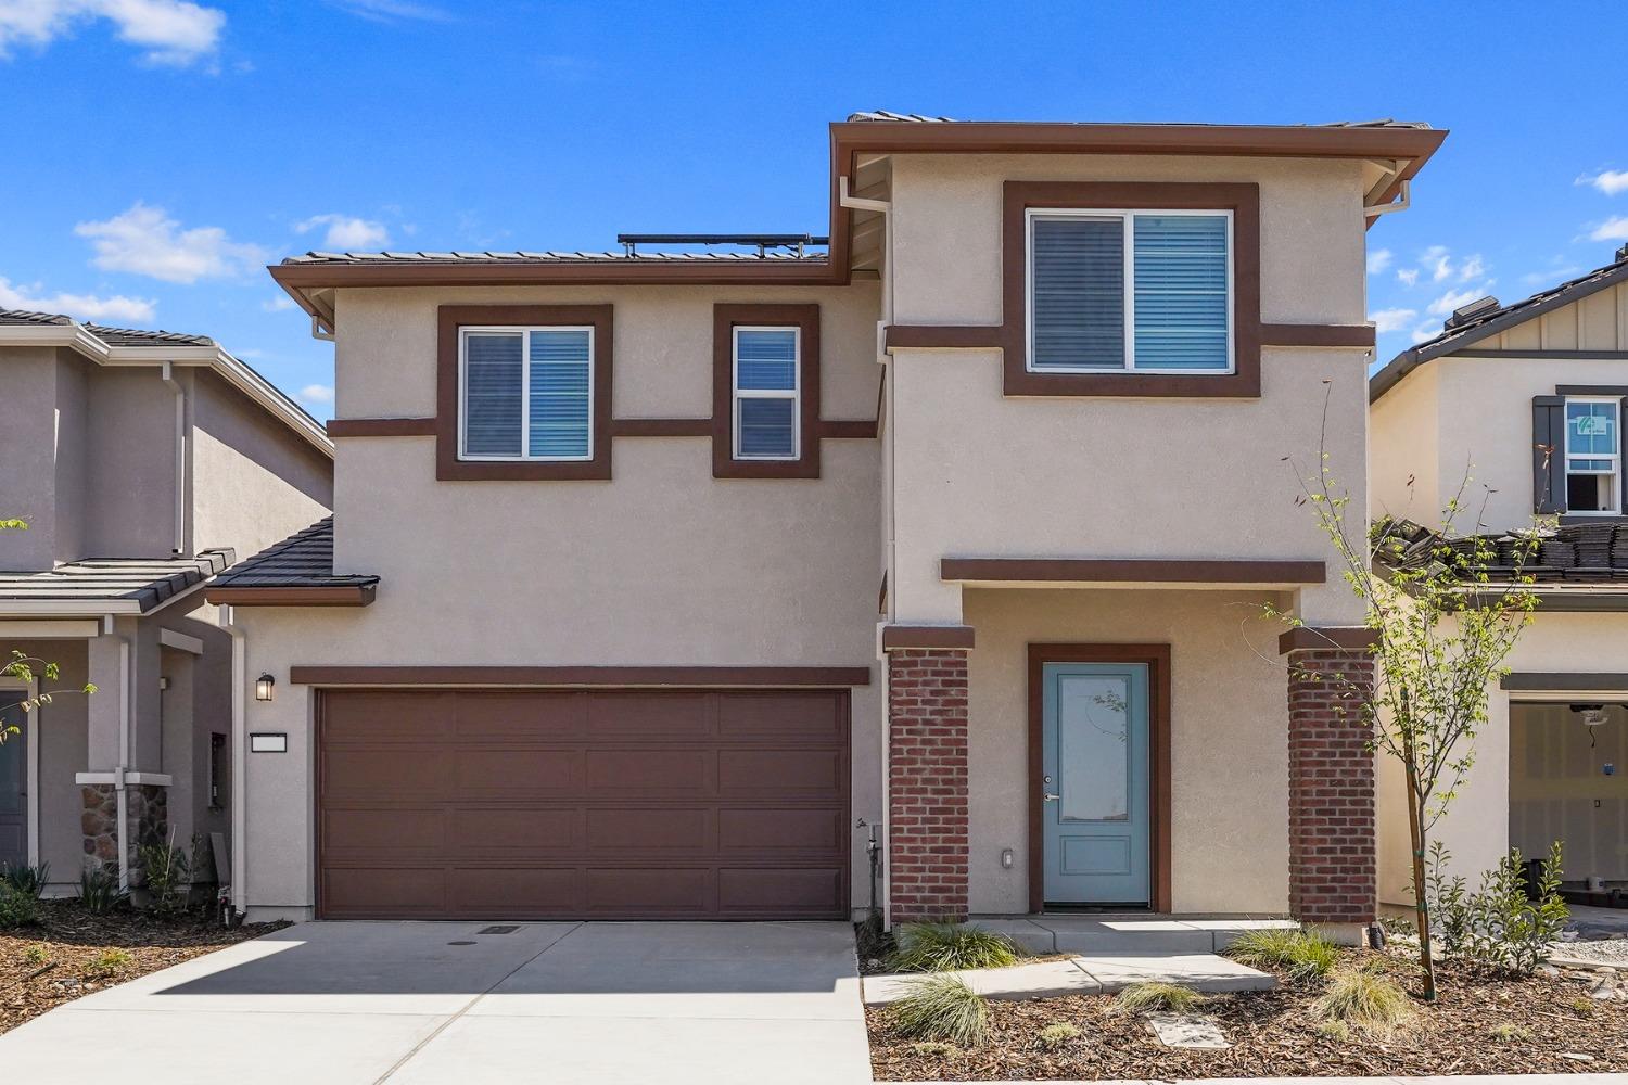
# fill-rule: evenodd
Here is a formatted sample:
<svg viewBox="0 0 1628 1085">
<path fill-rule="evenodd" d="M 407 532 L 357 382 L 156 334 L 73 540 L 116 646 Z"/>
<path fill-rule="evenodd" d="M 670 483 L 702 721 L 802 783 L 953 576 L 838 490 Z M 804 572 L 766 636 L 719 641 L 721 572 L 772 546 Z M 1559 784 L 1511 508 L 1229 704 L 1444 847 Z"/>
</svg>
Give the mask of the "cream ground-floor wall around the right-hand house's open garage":
<svg viewBox="0 0 1628 1085">
<path fill-rule="evenodd" d="M 1620 613 L 1538 613 L 1509 656 L 1516 672 L 1615 673 L 1628 659 L 1628 621 Z M 1587 695 L 1587 690 L 1571 693 Z M 1621 701 L 1621 693 L 1597 695 Z M 1491 869 L 1509 849 L 1509 703 L 1561 703 L 1566 695 L 1508 693 L 1488 690 L 1488 719 L 1475 739 L 1475 765 L 1457 797 L 1438 821 L 1434 839 L 1452 852 L 1452 870 L 1470 882 Z M 1407 791 L 1394 758 L 1381 758 L 1379 787 L 1379 893 L 1385 903 L 1407 903 L 1408 830 Z"/>
</svg>

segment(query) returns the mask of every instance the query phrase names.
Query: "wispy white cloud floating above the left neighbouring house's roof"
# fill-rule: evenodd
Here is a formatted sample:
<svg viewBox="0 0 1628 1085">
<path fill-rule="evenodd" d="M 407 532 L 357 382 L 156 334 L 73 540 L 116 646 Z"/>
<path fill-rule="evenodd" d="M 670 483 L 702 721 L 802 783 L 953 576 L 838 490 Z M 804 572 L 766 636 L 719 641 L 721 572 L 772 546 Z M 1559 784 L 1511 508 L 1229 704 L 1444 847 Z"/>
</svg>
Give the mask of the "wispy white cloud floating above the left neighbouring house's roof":
<svg viewBox="0 0 1628 1085">
<path fill-rule="evenodd" d="M 80 223 L 73 233 L 91 239 L 96 267 L 166 283 L 243 275 L 270 257 L 260 246 L 233 241 L 220 226 L 182 229 L 164 208 L 142 202 L 107 221 Z"/>
</svg>

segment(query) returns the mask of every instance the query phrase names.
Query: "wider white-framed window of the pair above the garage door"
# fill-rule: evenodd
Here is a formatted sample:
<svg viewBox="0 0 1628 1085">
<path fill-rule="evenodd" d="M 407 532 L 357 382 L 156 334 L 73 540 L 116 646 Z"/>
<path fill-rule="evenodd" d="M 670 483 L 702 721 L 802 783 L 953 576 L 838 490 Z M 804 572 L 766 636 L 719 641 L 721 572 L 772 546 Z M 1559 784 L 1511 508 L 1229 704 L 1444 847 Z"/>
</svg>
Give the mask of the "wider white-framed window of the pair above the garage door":
<svg viewBox="0 0 1628 1085">
<path fill-rule="evenodd" d="M 459 459 L 593 459 L 594 330 L 466 327 Z"/>
</svg>

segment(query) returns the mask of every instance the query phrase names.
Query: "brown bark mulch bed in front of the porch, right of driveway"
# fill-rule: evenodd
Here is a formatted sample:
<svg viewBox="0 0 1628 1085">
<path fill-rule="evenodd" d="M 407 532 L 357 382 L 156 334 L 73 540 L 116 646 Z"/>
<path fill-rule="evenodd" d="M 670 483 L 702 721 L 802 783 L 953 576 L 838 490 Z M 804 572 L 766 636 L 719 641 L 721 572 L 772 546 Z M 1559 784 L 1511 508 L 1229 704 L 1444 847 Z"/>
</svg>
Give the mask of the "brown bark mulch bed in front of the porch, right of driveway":
<svg viewBox="0 0 1628 1085">
<path fill-rule="evenodd" d="M 1415 965 L 1392 955 L 1379 960 L 1418 994 Z M 1376 966 L 1376 955 L 1353 952 L 1343 965 L 1358 961 Z M 871 1065 L 884 1082 L 1628 1070 L 1628 1002 L 1589 999 L 1586 978 L 1512 979 L 1438 966 L 1433 1005 L 1418 1002 L 1415 1018 L 1389 1038 L 1353 1030 L 1348 1039 L 1317 1033 L 1317 987 L 1280 983 L 1276 991 L 1214 996 L 1201 1007 L 1232 1041 L 1231 1051 L 1164 1048 L 1140 1017 L 1114 1013 L 1112 996 L 990 1002 L 990 1039 L 949 1054 L 918 1054 L 915 1041 L 891 1030 L 886 1009 L 866 1007 Z M 1081 1035 L 1044 1051 L 1037 1035 L 1053 1022 L 1071 1022 Z M 1499 1025 L 1524 1026 L 1530 1039 L 1499 1041 L 1493 1035 Z"/>
</svg>

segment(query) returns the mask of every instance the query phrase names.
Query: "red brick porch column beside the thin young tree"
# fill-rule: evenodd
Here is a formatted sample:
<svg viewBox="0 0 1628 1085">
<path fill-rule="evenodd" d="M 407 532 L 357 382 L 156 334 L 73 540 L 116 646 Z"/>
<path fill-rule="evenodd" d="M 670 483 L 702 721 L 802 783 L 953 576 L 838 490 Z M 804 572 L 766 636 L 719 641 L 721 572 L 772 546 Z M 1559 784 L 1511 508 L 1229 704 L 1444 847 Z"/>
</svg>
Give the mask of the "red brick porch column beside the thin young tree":
<svg viewBox="0 0 1628 1085">
<path fill-rule="evenodd" d="M 1372 727 L 1366 651 L 1289 654 L 1289 913 L 1307 924 L 1372 922 L 1377 906 Z"/>
</svg>

